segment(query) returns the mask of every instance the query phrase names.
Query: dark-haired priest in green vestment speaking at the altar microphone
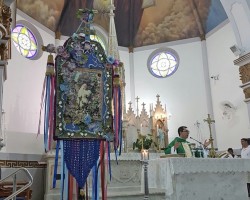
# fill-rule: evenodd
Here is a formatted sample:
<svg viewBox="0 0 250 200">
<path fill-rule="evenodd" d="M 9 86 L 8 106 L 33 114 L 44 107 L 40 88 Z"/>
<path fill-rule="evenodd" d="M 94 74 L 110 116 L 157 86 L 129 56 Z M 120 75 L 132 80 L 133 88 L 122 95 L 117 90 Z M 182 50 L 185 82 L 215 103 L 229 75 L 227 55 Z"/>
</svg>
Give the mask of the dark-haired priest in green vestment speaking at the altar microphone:
<svg viewBox="0 0 250 200">
<path fill-rule="evenodd" d="M 186 141 L 189 135 L 189 130 L 186 126 L 178 128 L 179 137 L 176 137 L 165 149 L 165 154 L 185 154 L 185 157 L 192 157 L 192 151 L 189 142 Z M 204 148 L 210 144 L 210 141 L 204 142 Z"/>
</svg>

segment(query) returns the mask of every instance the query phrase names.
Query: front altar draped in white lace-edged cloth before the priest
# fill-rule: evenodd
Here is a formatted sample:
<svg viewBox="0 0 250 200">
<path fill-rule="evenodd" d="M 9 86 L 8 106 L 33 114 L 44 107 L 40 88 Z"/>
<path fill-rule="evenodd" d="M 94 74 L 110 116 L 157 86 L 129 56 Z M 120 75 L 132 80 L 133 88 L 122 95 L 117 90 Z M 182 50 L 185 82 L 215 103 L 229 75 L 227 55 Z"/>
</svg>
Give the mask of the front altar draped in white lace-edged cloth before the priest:
<svg viewBox="0 0 250 200">
<path fill-rule="evenodd" d="M 249 159 L 158 158 L 149 160 L 149 191 L 166 200 L 248 200 Z"/>
</svg>

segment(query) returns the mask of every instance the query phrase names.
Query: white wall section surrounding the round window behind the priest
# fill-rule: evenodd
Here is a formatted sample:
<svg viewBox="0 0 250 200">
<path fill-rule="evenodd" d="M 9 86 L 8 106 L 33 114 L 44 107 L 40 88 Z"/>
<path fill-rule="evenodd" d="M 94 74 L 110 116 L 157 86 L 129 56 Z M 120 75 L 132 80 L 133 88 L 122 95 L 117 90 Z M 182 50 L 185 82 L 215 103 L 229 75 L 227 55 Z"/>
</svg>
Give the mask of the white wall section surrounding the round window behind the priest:
<svg viewBox="0 0 250 200">
<path fill-rule="evenodd" d="M 191 41 L 191 42 L 190 42 Z M 163 45 L 161 45 L 163 47 Z M 155 49 L 136 51 L 135 95 L 140 97 L 139 104 L 156 103 L 156 95 L 160 95 L 162 105 L 166 104 L 172 117 L 168 121 L 170 139 L 176 137 L 179 126 L 186 125 L 191 131 L 190 136 L 197 138 L 198 120 L 203 123 L 207 117 L 204 75 L 201 60 L 201 42 L 184 40 L 181 44 L 165 44 L 174 49 L 180 57 L 180 65 L 175 74 L 168 78 L 155 78 L 147 69 L 147 59 Z M 208 127 L 201 124 L 203 138 L 208 138 Z"/>
</svg>

